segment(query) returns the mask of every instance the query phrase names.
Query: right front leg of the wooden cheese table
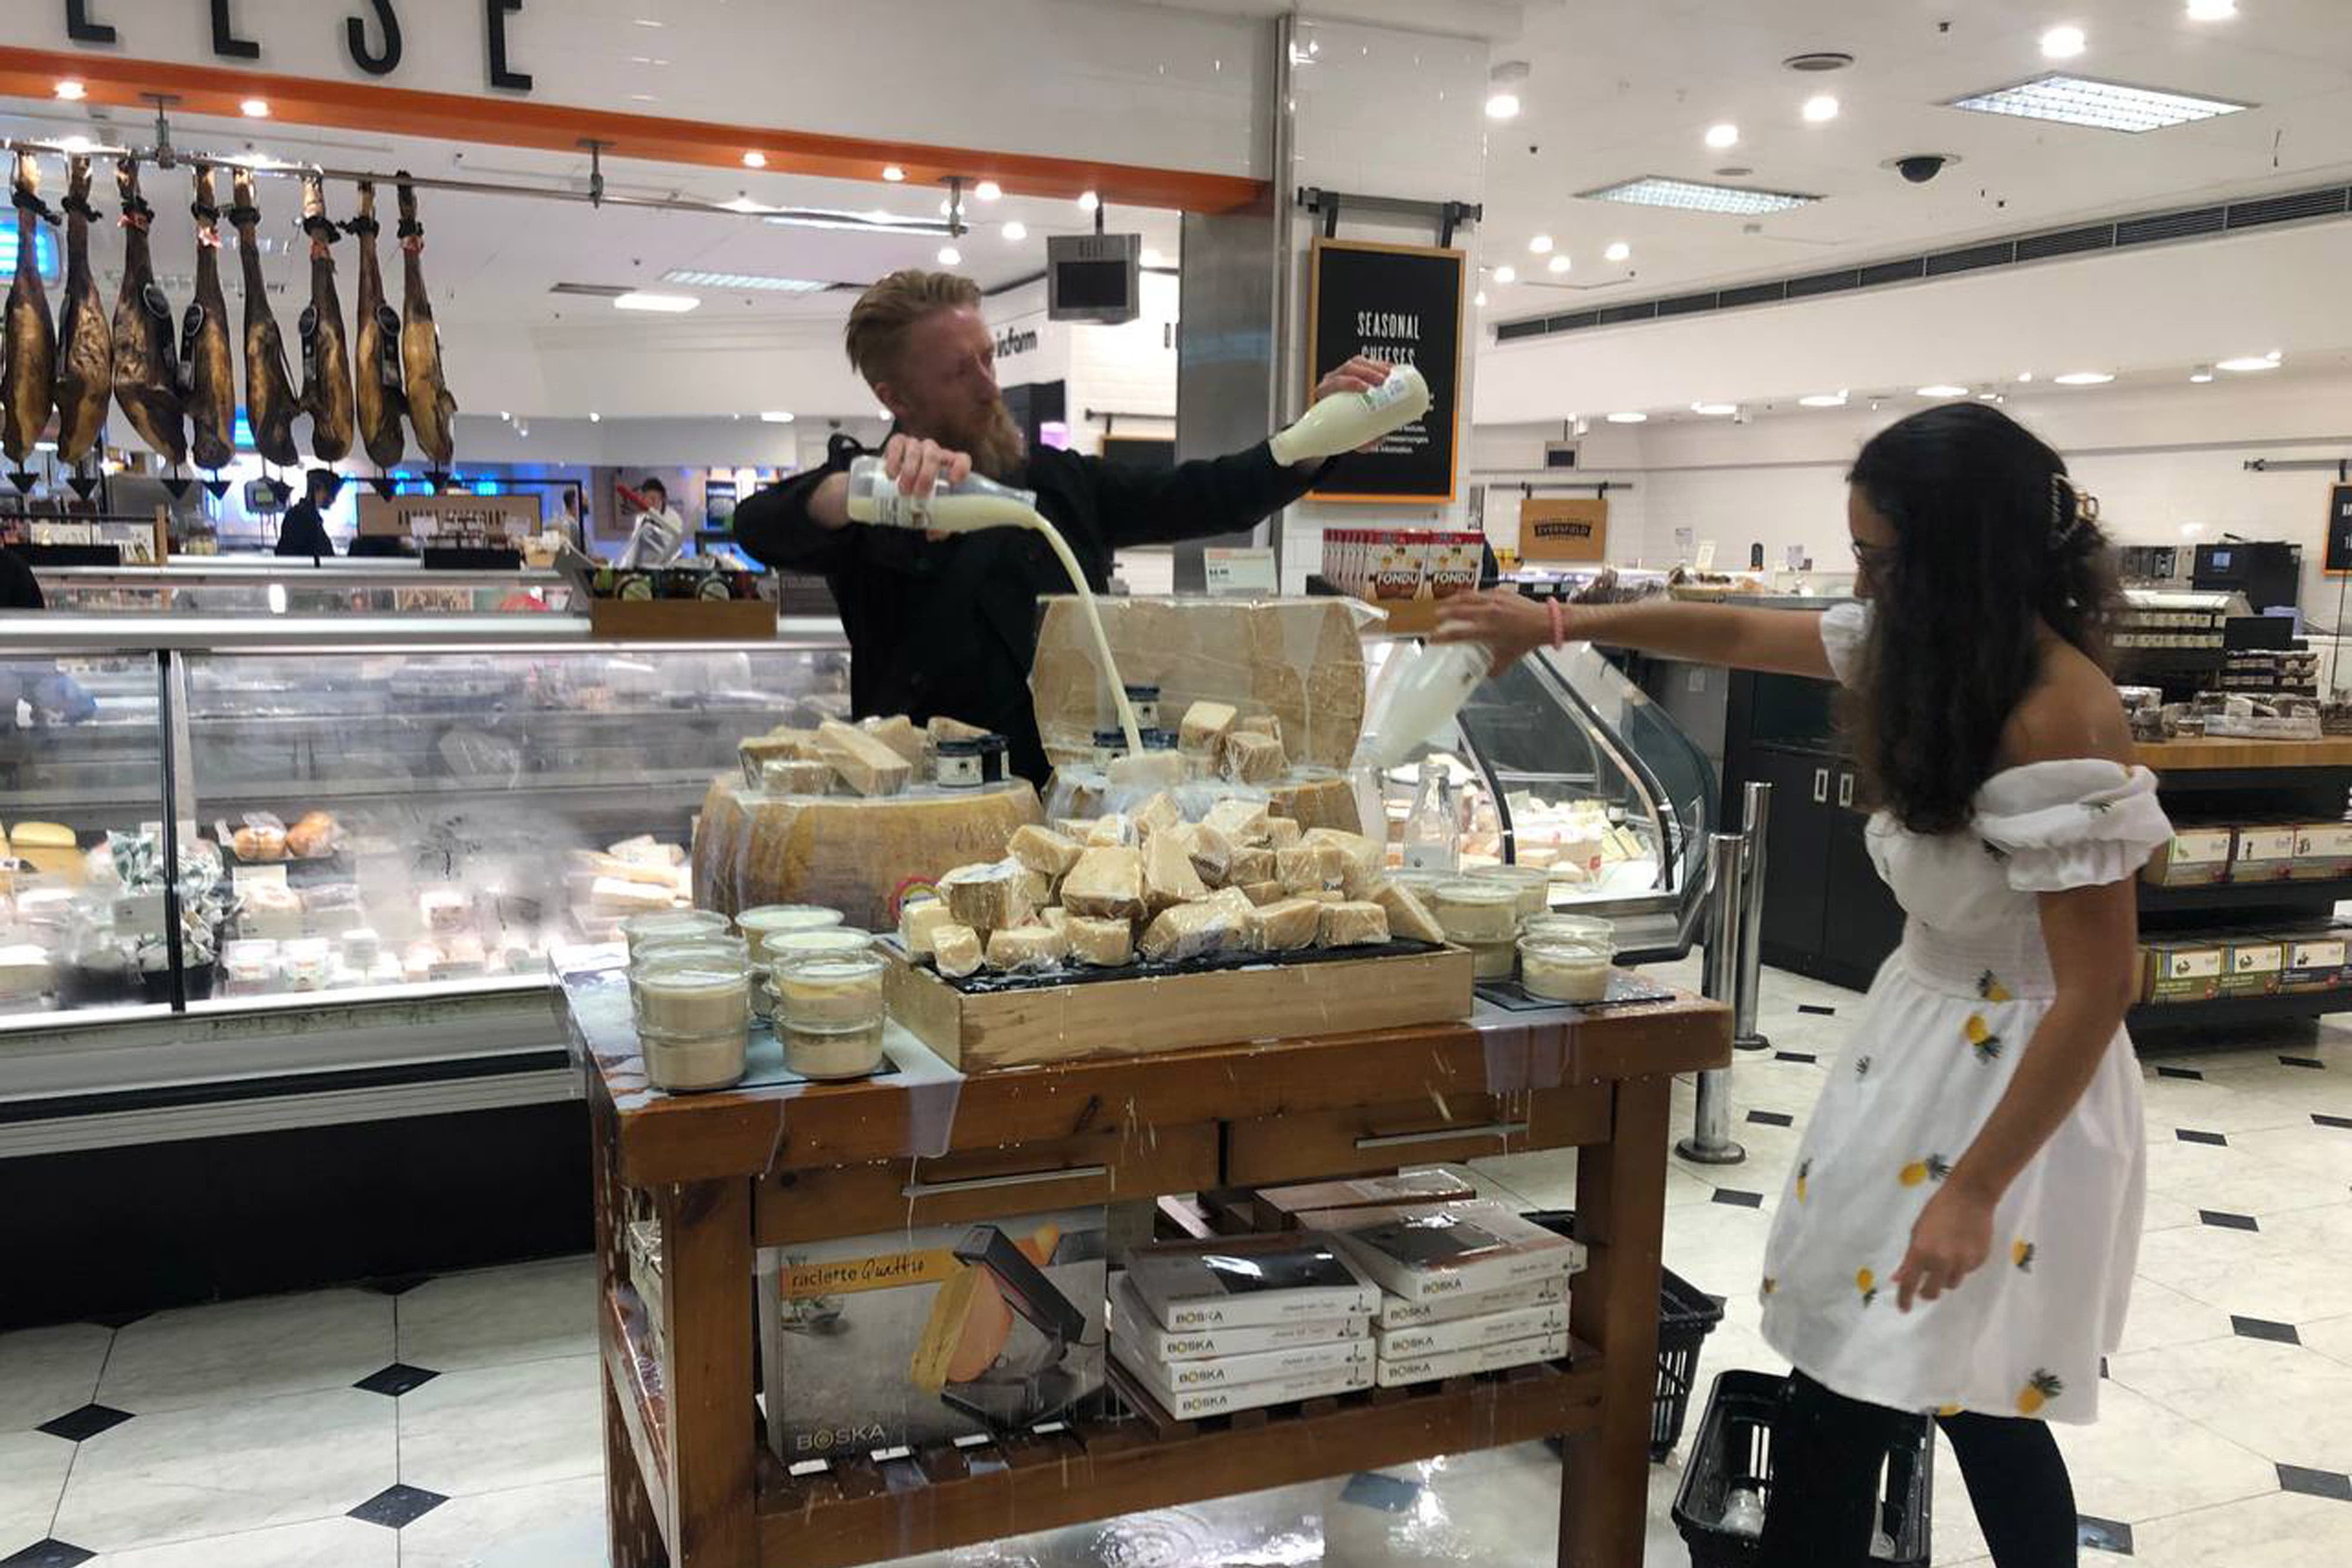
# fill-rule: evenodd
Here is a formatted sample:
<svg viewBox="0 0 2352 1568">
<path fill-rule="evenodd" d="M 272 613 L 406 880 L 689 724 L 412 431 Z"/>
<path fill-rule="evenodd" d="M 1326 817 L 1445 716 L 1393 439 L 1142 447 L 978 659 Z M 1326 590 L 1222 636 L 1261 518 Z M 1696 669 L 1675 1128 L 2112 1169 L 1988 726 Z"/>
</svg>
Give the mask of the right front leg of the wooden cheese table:
<svg viewBox="0 0 2352 1568">
<path fill-rule="evenodd" d="M 1602 1420 L 1566 1446 L 1559 1568 L 1637 1568 L 1658 1396 L 1658 1260 L 1672 1079 L 1616 1086 L 1609 1143 L 1576 1154 L 1576 1229 L 1592 1248 L 1569 1326 L 1602 1354 Z"/>
</svg>

